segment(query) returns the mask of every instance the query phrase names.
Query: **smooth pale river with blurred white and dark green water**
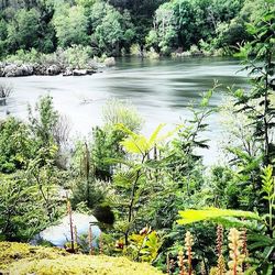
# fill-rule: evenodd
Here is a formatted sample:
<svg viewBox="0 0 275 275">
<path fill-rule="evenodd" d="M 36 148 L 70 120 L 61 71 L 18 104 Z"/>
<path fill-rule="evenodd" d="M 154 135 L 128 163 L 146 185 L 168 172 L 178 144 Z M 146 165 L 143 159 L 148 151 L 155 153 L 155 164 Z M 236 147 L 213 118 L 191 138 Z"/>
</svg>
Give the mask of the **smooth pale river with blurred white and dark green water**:
<svg viewBox="0 0 275 275">
<path fill-rule="evenodd" d="M 200 94 L 217 79 L 222 86 L 211 98 L 210 106 L 220 106 L 228 86 L 248 88 L 245 72 L 239 59 L 190 57 L 184 59 L 121 58 L 117 66 L 103 73 L 84 77 L 31 76 L 0 78 L 13 86 L 7 107 L 0 107 L 0 118 L 7 110 L 15 117 L 28 118 L 28 103 L 34 106 L 40 96 L 50 94 L 55 108 L 66 114 L 74 136 L 87 135 L 92 125 L 101 124 L 101 109 L 109 98 L 131 101 L 146 121 L 143 132 L 148 134 L 158 123 L 170 128 L 190 118 L 188 106 L 198 103 Z M 239 73 L 238 73 L 239 72 Z M 209 151 L 202 152 L 206 163 L 217 161 L 217 142 L 221 127 L 219 116 L 208 120 Z"/>
</svg>

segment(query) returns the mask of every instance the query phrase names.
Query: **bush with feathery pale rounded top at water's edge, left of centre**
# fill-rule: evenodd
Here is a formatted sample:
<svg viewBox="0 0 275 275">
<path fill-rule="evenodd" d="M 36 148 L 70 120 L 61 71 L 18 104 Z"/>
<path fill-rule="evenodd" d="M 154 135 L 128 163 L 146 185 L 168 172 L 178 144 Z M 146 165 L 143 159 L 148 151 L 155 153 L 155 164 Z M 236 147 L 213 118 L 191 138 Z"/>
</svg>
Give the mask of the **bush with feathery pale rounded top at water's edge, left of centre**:
<svg viewBox="0 0 275 275">
<path fill-rule="evenodd" d="M 111 160 L 123 160 L 125 153 L 120 144 L 128 132 L 121 131 L 118 123 L 125 124 L 129 130 L 139 131 L 143 120 L 131 105 L 111 99 L 102 109 L 103 127 L 92 130 L 91 162 L 95 176 L 109 179 L 113 174 L 114 164 Z"/>
</svg>

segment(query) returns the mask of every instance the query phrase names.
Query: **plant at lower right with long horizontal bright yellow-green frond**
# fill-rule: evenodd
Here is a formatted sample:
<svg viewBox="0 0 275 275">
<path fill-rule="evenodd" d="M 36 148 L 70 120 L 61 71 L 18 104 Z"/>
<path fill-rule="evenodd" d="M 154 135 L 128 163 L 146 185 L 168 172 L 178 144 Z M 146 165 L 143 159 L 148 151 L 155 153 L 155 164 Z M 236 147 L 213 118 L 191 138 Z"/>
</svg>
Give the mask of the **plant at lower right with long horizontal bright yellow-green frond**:
<svg viewBox="0 0 275 275">
<path fill-rule="evenodd" d="M 272 274 L 274 271 L 274 250 L 275 250 L 275 224 L 274 224 L 274 190 L 275 180 L 273 177 L 273 168 L 267 166 L 262 174 L 263 199 L 267 200 L 267 215 L 242 210 L 209 208 L 204 210 L 185 210 L 179 211 L 179 224 L 189 224 L 198 221 L 213 221 L 226 227 L 246 228 L 249 250 L 252 260 L 252 267 L 248 272 L 264 271 L 264 274 Z M 264 233 L 264 234 L 263 234 Z M 262 251 L 262 253 L 260 252 Z"/>
</svg>

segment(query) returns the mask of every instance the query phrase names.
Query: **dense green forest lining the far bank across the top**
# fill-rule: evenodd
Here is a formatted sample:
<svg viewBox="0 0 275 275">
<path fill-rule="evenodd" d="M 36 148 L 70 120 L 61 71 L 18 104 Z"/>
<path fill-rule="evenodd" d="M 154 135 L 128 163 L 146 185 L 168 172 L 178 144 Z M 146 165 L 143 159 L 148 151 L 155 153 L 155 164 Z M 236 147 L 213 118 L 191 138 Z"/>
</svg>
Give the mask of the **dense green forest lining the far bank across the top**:
<svg viewBox="0 0 275 275">
<path fill-rule="evenodd" d="M 0 55 L 74 45 L 91 56 L 228 55 L 253 38 L 246 24 L 267 6 L 264 0 L 1 0 Z"/>
</svg>

